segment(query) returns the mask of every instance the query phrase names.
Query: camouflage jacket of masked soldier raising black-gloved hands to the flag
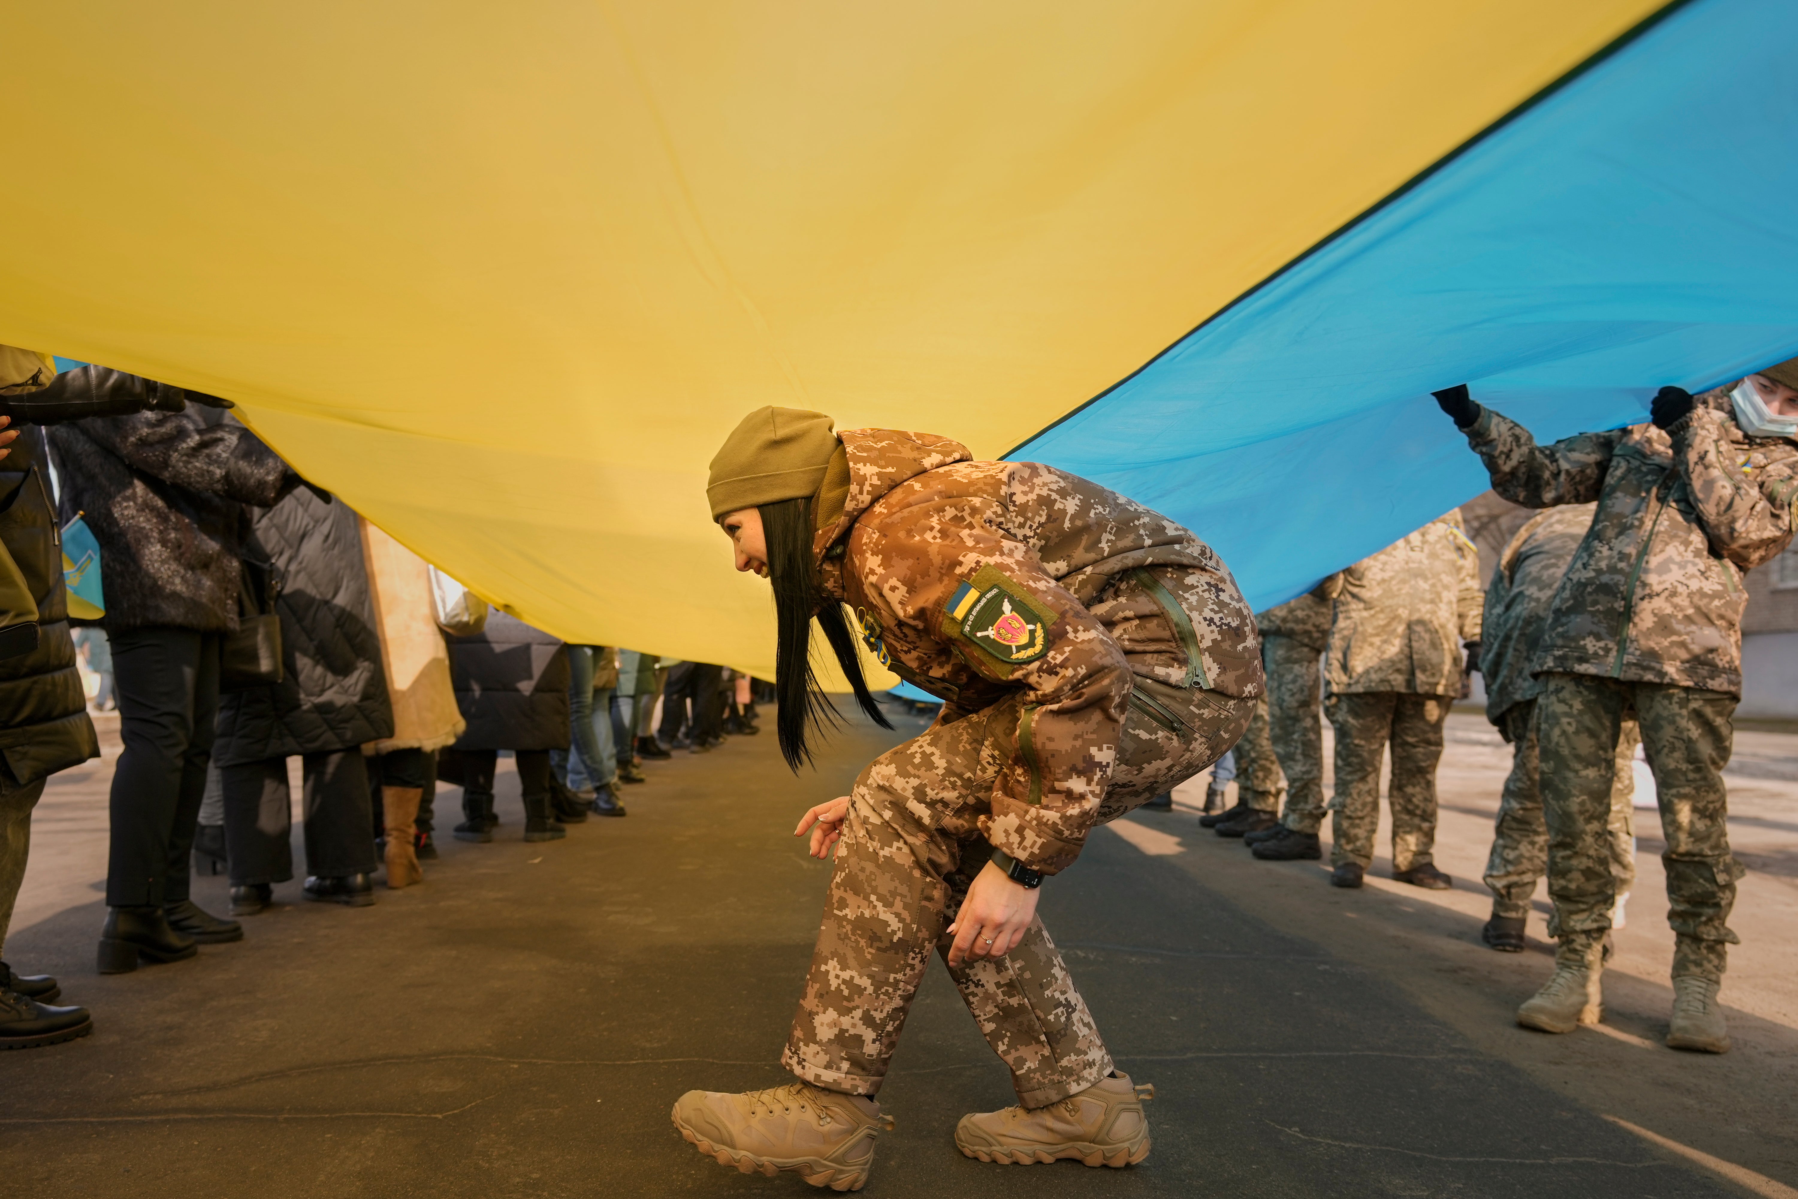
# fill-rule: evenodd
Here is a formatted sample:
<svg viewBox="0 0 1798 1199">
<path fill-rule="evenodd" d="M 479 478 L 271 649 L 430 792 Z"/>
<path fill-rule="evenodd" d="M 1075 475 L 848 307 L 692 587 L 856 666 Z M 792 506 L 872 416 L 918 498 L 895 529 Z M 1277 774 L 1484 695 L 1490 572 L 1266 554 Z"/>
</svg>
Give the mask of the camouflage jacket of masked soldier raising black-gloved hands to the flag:
<svg viewBox="0 0 1798 1199">
<path fill-rule="evenodd" d="M 1598 502 L 1530 671 L 1742 692 L 1742 572 L 1793 537 L 1798 446 L 1748 437 L 1722 392 L 1670 430 L 1537 446 L 1483 412 L 1467 442 L 1512 503 Z"/>
</svg>

